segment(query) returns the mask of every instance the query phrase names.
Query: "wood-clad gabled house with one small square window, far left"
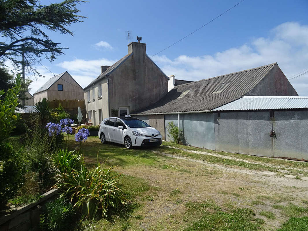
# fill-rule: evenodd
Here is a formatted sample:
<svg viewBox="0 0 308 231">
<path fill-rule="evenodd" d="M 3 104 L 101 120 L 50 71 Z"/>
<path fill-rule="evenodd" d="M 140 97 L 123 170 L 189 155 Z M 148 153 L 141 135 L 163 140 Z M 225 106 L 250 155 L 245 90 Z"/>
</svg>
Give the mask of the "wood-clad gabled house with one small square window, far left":
<svg viewBox="0 0 308 231">
<path fill-rule="evenodd" d="M 52 100 L 83 100 L 83 89 L 67 72 L 50 78 L 34 94 L 34 103 L 40 102 L 44 97 Z"/>
</svg>

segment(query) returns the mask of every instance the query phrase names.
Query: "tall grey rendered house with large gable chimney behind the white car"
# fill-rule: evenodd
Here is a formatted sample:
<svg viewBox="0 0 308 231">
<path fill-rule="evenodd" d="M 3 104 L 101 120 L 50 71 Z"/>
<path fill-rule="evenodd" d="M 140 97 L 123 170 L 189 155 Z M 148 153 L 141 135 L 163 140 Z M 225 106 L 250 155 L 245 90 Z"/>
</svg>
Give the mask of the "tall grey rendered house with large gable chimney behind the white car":
<svg viewBox="0 0 308 231">
<path fill-rule="evenodd" d="M 83 89 L 87 118 L 97 125 L 106 117 L 148 107 L 167 94 L 168 80 L 146 54 L 146 44 L 131 42 L 128 55 L 101 66 L 101 74 Z"/>
</svg>

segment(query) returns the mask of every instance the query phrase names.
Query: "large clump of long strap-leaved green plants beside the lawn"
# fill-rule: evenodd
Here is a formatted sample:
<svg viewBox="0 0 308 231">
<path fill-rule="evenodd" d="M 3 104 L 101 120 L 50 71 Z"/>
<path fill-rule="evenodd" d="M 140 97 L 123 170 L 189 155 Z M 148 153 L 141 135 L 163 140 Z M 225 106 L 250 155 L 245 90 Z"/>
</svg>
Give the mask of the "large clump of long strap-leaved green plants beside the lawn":
<svg viewBox="0 0 308 231">
<path fill-rule="evenodd" d="M 78 154 L 76 157 L 73 154 L 59 151 L 57 159 L 63 155 L 66 160 L 56 160 L 61 172 L 56 186 L 66 190 L 66 195 L 84 217 L 93 219 L 97 213 L 107 216 L 108 209 L 127 204 L 127 197 L 118 187 L 121 174 L 115 174 L 112 166 L 105 169 L 99 165 L 89 170 Z"/>
</svg>

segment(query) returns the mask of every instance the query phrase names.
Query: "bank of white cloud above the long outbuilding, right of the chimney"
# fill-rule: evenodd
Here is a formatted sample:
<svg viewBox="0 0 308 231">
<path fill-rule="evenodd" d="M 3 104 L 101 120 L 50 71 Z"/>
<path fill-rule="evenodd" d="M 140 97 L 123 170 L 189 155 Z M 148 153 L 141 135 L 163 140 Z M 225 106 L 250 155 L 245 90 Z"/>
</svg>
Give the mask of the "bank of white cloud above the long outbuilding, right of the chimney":
<svg viewBox="0 0 308 231">
<path fill-rule="evenodd" d="M 166 75 L 193 81 L 276 62 L 287 78 L 308 68 L 308 25 L 285 22 L 270 32 L 267 38 L 256 38 L 214 55 L 180 55 L 173 60 L 162 55 L 152 59 Z M 290 82 L 299 95 L 308 95 L 308 74 Z"/>
</svg>

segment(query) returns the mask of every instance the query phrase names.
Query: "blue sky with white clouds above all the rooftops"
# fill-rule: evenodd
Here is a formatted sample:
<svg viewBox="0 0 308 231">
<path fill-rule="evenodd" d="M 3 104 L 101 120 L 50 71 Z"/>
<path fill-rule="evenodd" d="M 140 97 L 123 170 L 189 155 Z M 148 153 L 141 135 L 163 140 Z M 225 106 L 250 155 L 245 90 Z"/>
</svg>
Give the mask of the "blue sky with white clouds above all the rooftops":
<svg viewBox="0 0 308 231">
<path fill-rule="evenodd" d="M 41 2 L 47 5 L 59 0 Z M 34 80 L 30 93 L 64 71 L 82 87 L 87 86 L 100 74 L 101 65 L 110 66 L 127 55 L 127 30 L 132 31 L 131 41 L 142 36 L 151 57 L 238 2 L 90 0 L 81 3 L 80 14 L 88 18 L 70 26 L 73 37 L 48 33 L 54 42 L 69 49 L 53 63 L 41 62 L 53 73 L 38 66 L 45 78 Z M 166 75 L 175 75 L 176 79 L 196 81 L 275 62 L 290 78 L 308 69 L 307 10 L 306 0 L 245 0 L 152 59 Z M 290 82 L 299 95 L 308 95 L 308 73 Z"/>
</svg>

